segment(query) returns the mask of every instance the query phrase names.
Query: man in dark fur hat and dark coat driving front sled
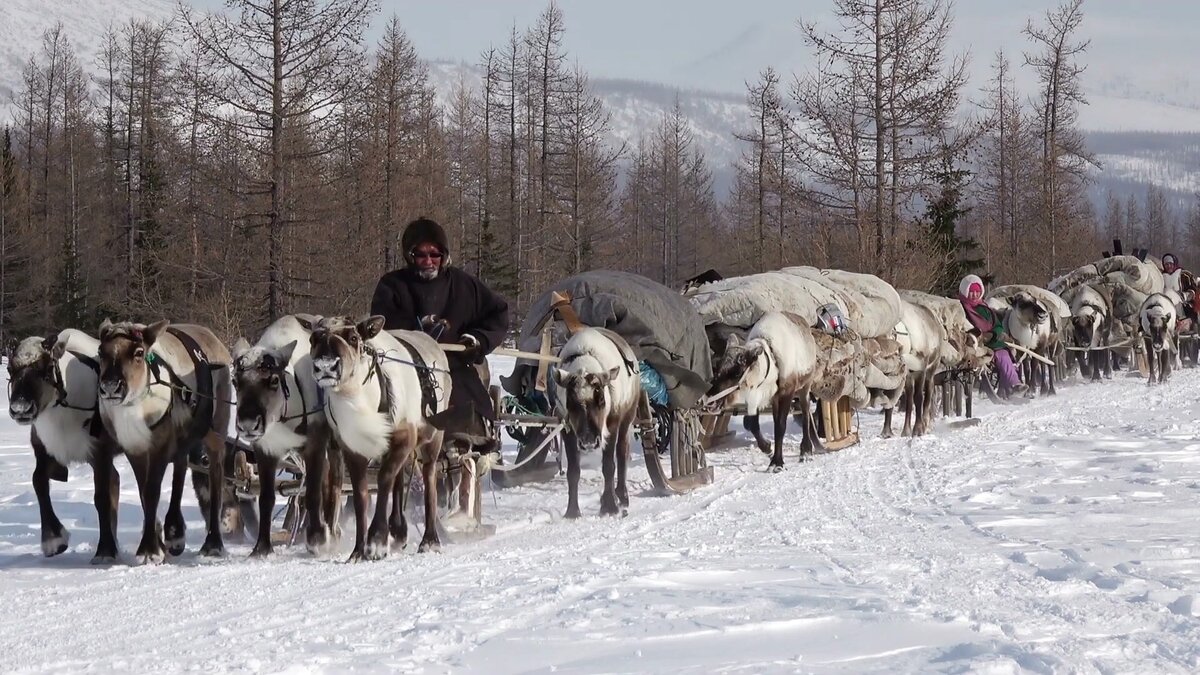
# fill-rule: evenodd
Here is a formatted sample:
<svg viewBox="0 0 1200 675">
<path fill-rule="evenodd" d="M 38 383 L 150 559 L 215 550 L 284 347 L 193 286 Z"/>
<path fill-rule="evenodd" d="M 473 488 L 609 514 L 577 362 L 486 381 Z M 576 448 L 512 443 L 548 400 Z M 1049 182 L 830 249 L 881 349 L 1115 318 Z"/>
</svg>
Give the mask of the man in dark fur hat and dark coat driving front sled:
<svg viewBox="0 0 1200 675">
<path fill-rule="evenodd" d="M 421 217 L 408 223 L 401 251 L 407 264 L 379 279 L 371 313 L 384 317 L 385 330 L 422 330 L 438 342 L 463 345 L 464 351 L 446 354 L 450 408 L 436 416 L 436 425 L 482 443 L 482 420 L 494 423 L 496 411 L 475 365 L 504 340 L 509 305 L 479 279 L 450 267 L 449 240 L 437 222 Z M 478 449 L 499 459 L 498 447 Z"/>
</svg>

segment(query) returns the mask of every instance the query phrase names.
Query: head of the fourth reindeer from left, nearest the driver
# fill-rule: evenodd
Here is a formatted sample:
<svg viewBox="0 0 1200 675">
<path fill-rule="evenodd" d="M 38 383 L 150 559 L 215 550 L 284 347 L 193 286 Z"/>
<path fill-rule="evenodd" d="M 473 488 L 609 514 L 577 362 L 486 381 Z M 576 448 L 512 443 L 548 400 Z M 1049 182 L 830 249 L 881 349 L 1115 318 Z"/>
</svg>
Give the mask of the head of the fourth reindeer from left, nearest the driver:
<svg viewBox="0 0 1200 675">
<path fill-rule="evenodd" d="M 384 317 L 371 316 L 358 323 L 344 316 L 328 316 L 319 322 L 301 318 L 300 325 L 312 331 L 308 353 L 312 356 L 312 372 L 317 386 L 336 389 L 343 384 L 365 378 L 361 371 L 373 358 L 367 341 L 383 330 Z"/>
</svg>

